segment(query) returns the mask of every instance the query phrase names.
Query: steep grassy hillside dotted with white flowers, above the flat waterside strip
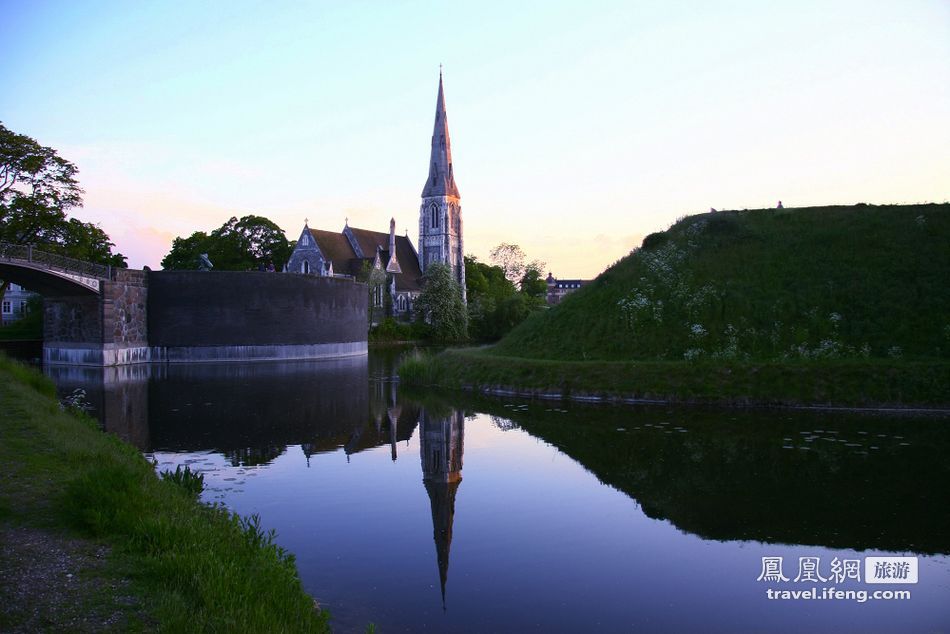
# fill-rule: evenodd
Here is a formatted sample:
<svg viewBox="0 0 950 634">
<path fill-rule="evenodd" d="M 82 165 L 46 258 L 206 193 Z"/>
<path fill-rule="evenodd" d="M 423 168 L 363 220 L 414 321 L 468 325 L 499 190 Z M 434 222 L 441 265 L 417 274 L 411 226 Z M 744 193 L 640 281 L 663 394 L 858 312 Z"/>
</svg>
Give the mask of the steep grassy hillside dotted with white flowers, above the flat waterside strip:
<svg viewBox="0 0 950 634">
<path fill-rule="evenodd" d="M 689 216 L 489 354 L 950 358 L 950 204 Z"/>
</svg>

